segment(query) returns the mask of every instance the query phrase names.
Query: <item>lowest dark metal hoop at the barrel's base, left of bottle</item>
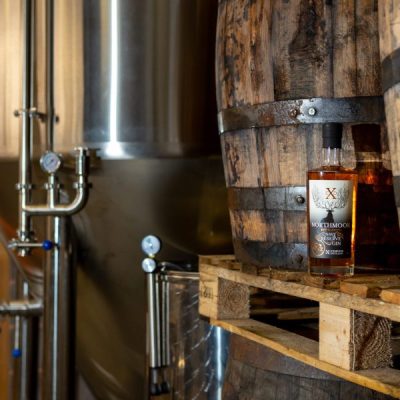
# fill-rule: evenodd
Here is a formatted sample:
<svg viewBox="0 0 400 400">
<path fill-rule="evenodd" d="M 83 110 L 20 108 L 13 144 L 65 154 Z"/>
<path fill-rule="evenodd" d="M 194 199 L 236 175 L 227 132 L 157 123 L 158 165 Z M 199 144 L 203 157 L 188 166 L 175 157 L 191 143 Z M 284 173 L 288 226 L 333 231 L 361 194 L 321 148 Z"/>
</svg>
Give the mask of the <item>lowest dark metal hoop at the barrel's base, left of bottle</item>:
<svg viewBox="0 0 400 400">
<path fill-rule="evenodd" d="M 233 247 L 236 258 L 243 263 L 294 270 L 307 268 L 306 243 L 270 243 L 234 238 Z"/>
</svg>

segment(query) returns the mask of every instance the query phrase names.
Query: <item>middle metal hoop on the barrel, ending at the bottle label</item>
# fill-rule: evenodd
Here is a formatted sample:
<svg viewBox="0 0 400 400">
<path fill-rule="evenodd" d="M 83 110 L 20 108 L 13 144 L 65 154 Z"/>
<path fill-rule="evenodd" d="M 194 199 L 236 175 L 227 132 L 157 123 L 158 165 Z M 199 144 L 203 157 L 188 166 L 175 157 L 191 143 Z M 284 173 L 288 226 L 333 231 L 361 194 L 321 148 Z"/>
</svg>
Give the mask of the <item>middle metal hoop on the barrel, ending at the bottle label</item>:
<svg viewBox="0 0 400 400">
<path fill-rule="evenodd" d="M 231 210 L 305 211 L 305 186 L 228 188 Z"/>
</svg>

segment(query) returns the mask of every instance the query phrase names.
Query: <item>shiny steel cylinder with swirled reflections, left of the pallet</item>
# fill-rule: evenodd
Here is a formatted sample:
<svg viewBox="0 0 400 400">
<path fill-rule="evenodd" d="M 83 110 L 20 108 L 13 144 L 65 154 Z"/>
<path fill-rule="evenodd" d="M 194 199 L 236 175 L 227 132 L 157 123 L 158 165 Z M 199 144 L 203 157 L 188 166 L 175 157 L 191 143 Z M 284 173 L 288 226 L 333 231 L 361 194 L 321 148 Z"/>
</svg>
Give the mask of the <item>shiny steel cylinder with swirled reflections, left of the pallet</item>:
<svg viewBox="0 0 400 400">
<path fill-rule="evenodd" d="M 170 293 L 170 385 L 175 400 L 221 400 L 229 333 L 200 319 L 199 281 L 166 274 Z"/>
</svg>

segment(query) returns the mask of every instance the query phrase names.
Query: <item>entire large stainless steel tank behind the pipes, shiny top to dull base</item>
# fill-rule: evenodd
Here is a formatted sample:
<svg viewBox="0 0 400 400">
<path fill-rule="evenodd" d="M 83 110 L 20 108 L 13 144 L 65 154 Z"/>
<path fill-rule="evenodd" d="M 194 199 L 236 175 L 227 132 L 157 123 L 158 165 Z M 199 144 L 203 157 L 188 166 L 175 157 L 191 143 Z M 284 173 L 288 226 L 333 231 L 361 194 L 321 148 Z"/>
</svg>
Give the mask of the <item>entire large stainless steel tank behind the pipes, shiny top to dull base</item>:
<svg viewBox="0 0 400 400">
<path fill-rule="evenodd" d="M 0 0 L 0 51 L 8 49 L 9 61 L 0 67 L 7 89 L 0 94 L 0 215 L 14 226 L 18 166 L 5 158 L 17 155 L 21 4 Z M 44 88 L 54 84 L 55 149 L 84 144 L 101 158 L 89 203 L 74 217 L 78 368 L 98 399 L 142 399 L 141 239 L 160 236 L 166 260 L 231 251 L 213 89 L 217 0 L 55 0 L 54 77 L 47 84 L 44 5 L 37 1 L 38 109 L 50 113 Z M 37 122 L 36 153 L 46 142 L 44 126 Z"/>
</svg>

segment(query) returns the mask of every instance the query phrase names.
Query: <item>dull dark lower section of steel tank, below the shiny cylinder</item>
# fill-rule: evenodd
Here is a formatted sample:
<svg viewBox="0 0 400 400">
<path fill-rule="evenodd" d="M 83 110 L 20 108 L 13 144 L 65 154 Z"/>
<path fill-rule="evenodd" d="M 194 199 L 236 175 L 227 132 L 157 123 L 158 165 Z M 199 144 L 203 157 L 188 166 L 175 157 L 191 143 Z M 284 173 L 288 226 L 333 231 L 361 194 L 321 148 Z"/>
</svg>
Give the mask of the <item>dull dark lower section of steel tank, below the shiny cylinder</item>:
<svg viewBox="0 0 400 400">
<path fill-rule="evenodd" d="M 141 240 L 162 260 L 227 254 L 231 235 L 221 158 L 104 161 L 91 175 L 79 242 L 78 367 L 101 400 L 143 399 L 146 280 Z"/>
</svg>

